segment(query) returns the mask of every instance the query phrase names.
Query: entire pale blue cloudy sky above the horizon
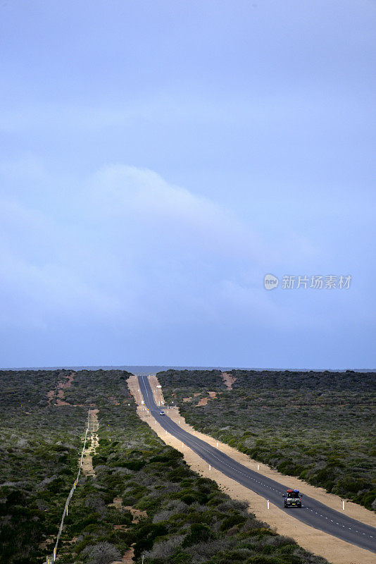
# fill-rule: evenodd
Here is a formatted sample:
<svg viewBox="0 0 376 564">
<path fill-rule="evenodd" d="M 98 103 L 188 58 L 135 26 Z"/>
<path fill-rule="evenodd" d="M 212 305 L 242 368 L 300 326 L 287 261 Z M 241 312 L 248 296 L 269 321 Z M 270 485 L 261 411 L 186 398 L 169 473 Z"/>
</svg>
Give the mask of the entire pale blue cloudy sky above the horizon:
<svg viewBox="0 0 376 564">
<path fill-rule="evenodd" d="M 0 367 L 375 368 L 375 26 L 2 1 Z"/>
</svg>

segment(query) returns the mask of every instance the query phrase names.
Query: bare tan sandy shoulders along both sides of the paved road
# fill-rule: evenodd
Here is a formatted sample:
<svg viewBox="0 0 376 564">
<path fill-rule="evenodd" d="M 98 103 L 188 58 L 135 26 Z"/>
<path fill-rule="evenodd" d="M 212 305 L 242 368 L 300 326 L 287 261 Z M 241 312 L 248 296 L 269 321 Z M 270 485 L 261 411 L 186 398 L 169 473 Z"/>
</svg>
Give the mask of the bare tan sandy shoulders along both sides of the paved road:
<svg viewBox="0 0 376 564">
<path fill-rule="evenodd" d="M 133 381 L 131 381 L 132 378 L 134 379 Z M 153 393 L 154 389 L 158 390 L 158 398 L 163 398 L 161 388 L 156 388 L 156 385 L 158 385 L 157 383 L 158 380 L 154 376 L 154 379 L 151 380 L 151 389 L 153 390 Z M 137 399 L 141 397 L 141 393 L 137 396 L 137 378 L 135 376 L 131 376 L 128 380 L 128 385 L 132 393 L 133 389 L 137 388 L 135 393 L 133 393 L 134 398 L 137 401 Z M 332 537 L 330 534 L 313 529 L 313 527 L 309 527 L 308 525 L 294 519 L 291 515 L 287 515 L 284 513 L 282 508 L 279 508 L 272 503 L 270 503 L 270 509 L 268 510 L 267 502 L 263 497 L 254 494 L 251 490 L 241 486 L 234 480 L 225 476 L 225 474 L 222 474 L 222 472 L 218 472 L 218 470 L 213 469 L 209 470 L 208 465 L 199 457 L 199 455 L 196 455 L 187 446 L 182 446 L 182 442 L 175 439 L 175 437 L 170 434 L 166 434 L 165 429 L 163 429 L 161 425 L 150 415 L 150 413 L 145 410 L 144 406 L 141 405 L 139 401 L 137 401 L 137 404 L 139 405 L 137 408 L 139 417 L 147 422 L 165 443 L 173 446 L 177 450 L 180 450 L 180 452 L 184 454 L 184 459 L 187 464 L 192 467 L 192 470 L 198 472 L 202 476 L 214 479 L 215 482 L 218 483 L 218 486 L 220 486 L 220 488 L 232 498 L 245 499 L 246 501 L 249 501 L 251 512 L 254 513 L 258 519 L 267 522 L 270 527 L 275 529 L 279 534 L 292 537 L 298 544 L 303 546 L 303 548 L 306 548 L 306 550 L 327 558 L 327 560 L 333 564 L 375 563 L 375 554 L 370 551 L 358 548 L 345 541 L 341 541 L 336 537 Z M 193 433 L 194 429 L 184 422 L 183 417 L 179 414 L 176 408 L 168 410 L 168 415 L 176 423 L 180 424 L 182 429 Z M 259 467 L 260 474 L 275 479 L 277 482 L 286 483 L 289 480 L 289 477 L 284 474 L 280 474 L 280 472 L 272 470 L 268 466 L 263 465 L 260 462 L 256 462 L 256 460 L 251 460 L 248 456 L 243 453 L 239 453 L 238 450 L 225 445 L 220 441 L 216 441 L 211 436 L 203 435 L 198 431 L 195 431 L 195 435 L 198 436 L 199 439 L 203 439 L 203 441 L 206 441 L 213 446 L 217 446 L 218 444 L 218 448 L 220 448 L 220 450 L 223 450 L 223 452 L 230 455 L 234 458 L 234 460 L 242 462 L 242 464 L 248 466 L 252 470 L 257 471 L 257 468 Z M 294 487 L 299 487 L 303 493 L 306 493 L 308 496 L 311 496 L 318 501 L 322 501 L 322 503 L 325 503 L 336 510 L 341 510 L 342 501 L 338 496 L 327 494 L 325 490 L 310 486 L 309 484 L 306 484 L 306 482 L 297 480 L 296 478 L 291 477 L 291 480 L 292 485 L 294 485 Z M 376 525 L 375 515 L 355 503 L 346 503 L 346 514 L 354 517 L 355 519 L 361 520 L 368 525 L 372 525 L 373 527 Z"/>
</svg>

